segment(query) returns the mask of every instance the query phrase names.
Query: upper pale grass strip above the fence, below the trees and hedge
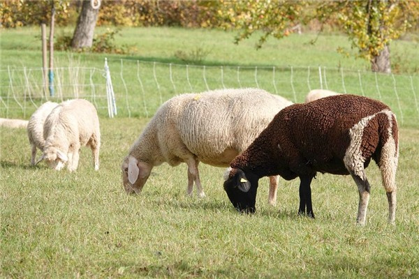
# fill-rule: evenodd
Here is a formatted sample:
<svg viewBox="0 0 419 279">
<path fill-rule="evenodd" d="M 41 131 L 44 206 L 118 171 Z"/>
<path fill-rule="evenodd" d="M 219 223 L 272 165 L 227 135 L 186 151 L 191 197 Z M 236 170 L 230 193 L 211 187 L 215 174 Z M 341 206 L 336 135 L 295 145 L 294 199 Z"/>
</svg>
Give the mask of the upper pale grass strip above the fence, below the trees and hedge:
<svg viewBox="0 0 419 279">
<path fill-rule="evenodd" d="M 97 33 L 104 31 L 98 28 Z M 41 39 L 39 28 L 23 28 L 15 30 L 0 30 L 1 35 L 1 68 L 7 65 L 24 65 L 27 67 L 41 66 Z M 71 29 L 58 29 L 57 34 L 71 33 Z M 316 44 L 309 42 L 316 34 L 303 36 L 291 35 L 282 40 L 270 39 L 262 49 L 255 50 L 257 36 L 233 44 L 235 32 L 200 29 L 174 28 L 124 28 L 115 37 L 117 45 L 131 45 L 136 51 L 131 59 L 146 59 L 152 61 L 175 61 L 175 53 L 184 51 L 186 54 L 198 49 L 209 52 L 205 63 L 234 65 L 274 65 L 274 66 L 328 66 L 355 69 L 369 69 L 369 63 L 353 56 L 345 57 L 336 52 L 337 47 L 344 47 L 349 53 L 350 44 L 346 37 L 339 35 L 318 36 Z M 419 57 L 415 55 L 418 43 L 395 41 L 392 47 L 392 61 L 404 69 L 418 68 Z M 21 52 L 25 50 L 25 52 Z M 39 56 L 37 59 L 36 57 Z M 56 57 L 66 63 L 67 54 L 56 52 Z M 103 66 L 103 56 L 115 55 L 81 54 L 89 66 Z M 117 56 L 120 57 L 120 56 Z M 32 59 L 29 59 L 32 58 Z M 395 66 L 395 65 L 393 65 Z"/>
</svg>

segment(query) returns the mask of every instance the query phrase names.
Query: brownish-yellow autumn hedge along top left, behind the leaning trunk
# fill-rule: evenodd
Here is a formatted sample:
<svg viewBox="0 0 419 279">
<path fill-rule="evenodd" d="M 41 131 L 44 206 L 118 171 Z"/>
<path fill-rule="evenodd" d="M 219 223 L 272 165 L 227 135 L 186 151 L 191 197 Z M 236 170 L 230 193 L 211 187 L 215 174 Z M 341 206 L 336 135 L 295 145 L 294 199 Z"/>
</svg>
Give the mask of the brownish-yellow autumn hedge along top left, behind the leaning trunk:
<svg viewBox="0 0 419 279">
<path fill-rule="evenodd" d="M 50 22 L 52 3 L 58 25 L 75 24 L 81 0 L 0 1 L 2 27 Z M 218 1 L 119 0 L 101 1 L 97 25 L 215 27 Z"/>
</svg>

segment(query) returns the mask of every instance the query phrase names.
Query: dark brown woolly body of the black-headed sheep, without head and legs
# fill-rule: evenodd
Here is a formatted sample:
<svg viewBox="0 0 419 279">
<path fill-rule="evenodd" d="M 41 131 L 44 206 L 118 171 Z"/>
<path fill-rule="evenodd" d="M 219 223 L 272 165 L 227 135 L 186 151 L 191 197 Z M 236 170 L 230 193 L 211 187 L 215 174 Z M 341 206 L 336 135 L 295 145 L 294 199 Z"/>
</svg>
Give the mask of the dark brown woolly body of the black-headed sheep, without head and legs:
<svg viewBox="0 0 419 279">
<path fill-rule="evenodd" d="M 284 179 L 348 174 L 352 164 L 367 167 L 371 158 L 380 161 L 375 151 L 381 140 L 388 140 L 389 128 L 398 150 L 395 115 L 377 100 L 345 94 L 295 104 L 281 110 L 231 167 Z"/>
</svg>

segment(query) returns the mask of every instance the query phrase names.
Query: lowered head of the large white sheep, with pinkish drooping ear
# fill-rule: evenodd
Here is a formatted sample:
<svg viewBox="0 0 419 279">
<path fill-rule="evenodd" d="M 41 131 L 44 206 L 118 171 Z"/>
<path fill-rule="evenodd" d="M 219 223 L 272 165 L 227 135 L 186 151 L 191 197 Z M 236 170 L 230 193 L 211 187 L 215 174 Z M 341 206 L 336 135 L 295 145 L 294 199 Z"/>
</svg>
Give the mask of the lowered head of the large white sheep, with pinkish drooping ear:
<svg viewBox="0 0 419 279">
<path fill-rule="evenodd" d="M 122 183 L 128 194 L 140 193 L 152 172 L 152 166 L 128 156 L 122 163 Z"/>
</svg>

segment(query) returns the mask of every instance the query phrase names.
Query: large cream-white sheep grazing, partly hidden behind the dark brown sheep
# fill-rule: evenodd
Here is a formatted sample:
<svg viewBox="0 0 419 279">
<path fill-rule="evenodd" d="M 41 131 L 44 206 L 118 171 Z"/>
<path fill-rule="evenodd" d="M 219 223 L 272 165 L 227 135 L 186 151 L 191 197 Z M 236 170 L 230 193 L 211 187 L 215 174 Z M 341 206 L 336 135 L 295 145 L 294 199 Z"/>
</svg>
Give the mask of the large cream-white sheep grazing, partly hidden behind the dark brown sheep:
<svg viewBox="0 0 419 279">
<path fill-rule="evenodd" d="M 221 89 L 186 93 L 164 103 L 131 146 L 122 163 L 127 193 L 140 193 L 152 168 L 188 165 L 187 193 L 193 182 L 205 197 L 198 163 L 228 166 L 284 107 L 292 103 L 262 89 Z M 277 177 L 270 177 L 270 204 L 277 199 Z"/>
</svg>

